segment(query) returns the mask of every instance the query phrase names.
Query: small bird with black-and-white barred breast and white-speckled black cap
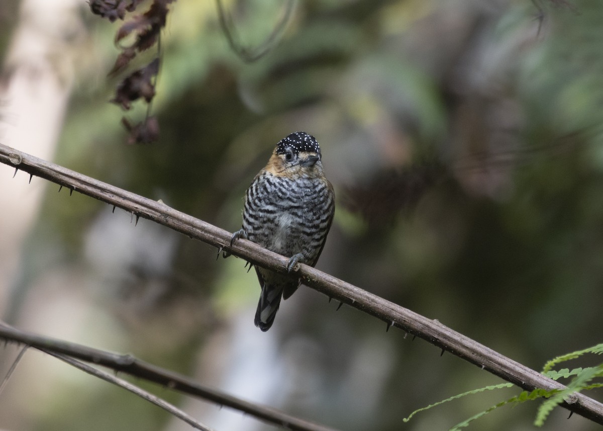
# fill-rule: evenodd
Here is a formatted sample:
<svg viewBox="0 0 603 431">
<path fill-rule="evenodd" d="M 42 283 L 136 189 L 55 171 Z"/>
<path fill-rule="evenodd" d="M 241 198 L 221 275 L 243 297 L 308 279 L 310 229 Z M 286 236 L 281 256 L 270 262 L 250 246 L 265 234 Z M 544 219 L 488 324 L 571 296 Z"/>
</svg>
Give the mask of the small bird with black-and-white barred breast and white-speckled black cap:
<svg viewBox="0 0 603 431">
<path fill-rule="evenodd" d="M 268 164 L 247 189 L 243 226 L 230 244 L 246 238 L 289 257 L 289 272 L 297 263 L 314 266 L 323 251 L 333 214 L 335 193 L 324 177 L 318 142 L 308 133 L 291 133 L 276 145 Z M 301 280 L 260 267 L 256 267 L 256 273 L 262 293 L 255 324 L 268 331 L 280 298 L 293 295 Z"/>
</svg>

